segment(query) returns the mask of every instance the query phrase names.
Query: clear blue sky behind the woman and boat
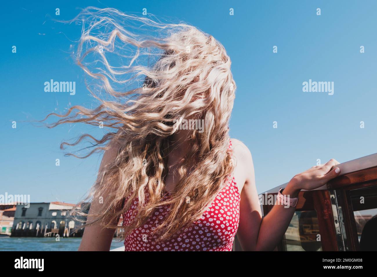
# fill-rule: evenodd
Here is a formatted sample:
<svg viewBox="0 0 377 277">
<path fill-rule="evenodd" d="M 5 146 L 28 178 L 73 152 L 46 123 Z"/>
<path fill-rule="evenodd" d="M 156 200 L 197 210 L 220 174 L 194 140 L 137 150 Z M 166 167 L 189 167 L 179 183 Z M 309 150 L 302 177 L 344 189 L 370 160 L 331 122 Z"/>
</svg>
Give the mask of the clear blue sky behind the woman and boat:
<svg viewBox="0 0 377 277">
<path fill-rule="evenodd" d="M 0 27 L 1 194 L 74 203 L 95 180 L 100 155 L 64 157 L 59 145 L 98 131 L 23 122 L 93 103 L 84 73 L 68 54 L 80 26 L 51 20 L 71 19 L 87 6 L 138 13 L 147 8 L 157 17 L 190 23 L 225 46 L 237 84 L 231 136 L 253 155 L 259 193 L 289 181 L 317 159 L 345 162 L 377 152 L 375 1 L 13 1 L 3 3 Z M 44 92 L 50 79 L 75 81 L 76 94 Z M 309 79 L 333 81 L 334 95 L 303 92 Z"/>
</svg>

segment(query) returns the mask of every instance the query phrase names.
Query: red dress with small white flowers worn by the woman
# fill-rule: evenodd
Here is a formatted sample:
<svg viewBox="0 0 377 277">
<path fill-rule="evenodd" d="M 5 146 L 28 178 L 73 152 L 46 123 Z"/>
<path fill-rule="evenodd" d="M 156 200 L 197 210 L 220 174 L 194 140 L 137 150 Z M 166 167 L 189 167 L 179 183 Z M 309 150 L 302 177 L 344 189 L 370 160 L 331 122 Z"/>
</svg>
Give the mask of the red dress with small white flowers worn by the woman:
<svg viewBox="0 0 377 277">
<path fill-rule="evenodd" d="M 231 148 L 231 142 L 229 147 Z M 169 193 L 166 197 L 169 197 Z M 236 181 L 234 177 L 229 177 L 201 219 L 164 242 L 157 242 L 150 232 L 156 226 L 156 221 L 169 213 L 169 207 L 156 208 L 146 224 L 136 228 L 125 238 L 125 251 L 231 251 L 239 223 L 239 201 Z M 123 214 L 124 226 L 133 220 L 137 204 L 136 199 Z"/>
</svg>

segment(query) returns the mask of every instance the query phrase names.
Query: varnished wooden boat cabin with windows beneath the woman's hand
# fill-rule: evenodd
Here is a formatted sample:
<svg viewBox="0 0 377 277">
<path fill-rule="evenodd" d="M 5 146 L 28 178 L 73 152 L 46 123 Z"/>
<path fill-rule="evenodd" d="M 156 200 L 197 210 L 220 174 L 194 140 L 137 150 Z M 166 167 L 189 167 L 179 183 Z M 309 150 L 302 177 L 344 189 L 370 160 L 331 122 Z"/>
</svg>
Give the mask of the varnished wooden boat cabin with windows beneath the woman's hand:
<svg viewBox="0 0 377 277">
<path fill-rule="evenodd" d="M 276 251 L 377 250 L 377 153 L 337 167 L 340 176 L 328 184 L 300 191 L 296 212 Z M 285 185 L 263 194 L 276 199 Z M 272 208 L 264 202 L 262 213 Z M 241 250 L 237 240 L 233 250 Z"/>
</svg>

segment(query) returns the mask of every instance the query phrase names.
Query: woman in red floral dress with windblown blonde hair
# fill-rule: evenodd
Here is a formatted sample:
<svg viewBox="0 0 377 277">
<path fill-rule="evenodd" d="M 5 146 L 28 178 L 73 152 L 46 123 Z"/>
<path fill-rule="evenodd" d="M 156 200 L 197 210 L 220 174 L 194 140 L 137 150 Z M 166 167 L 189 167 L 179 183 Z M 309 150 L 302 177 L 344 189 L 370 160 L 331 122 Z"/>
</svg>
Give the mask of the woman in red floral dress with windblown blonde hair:
<svg viewBox="0 0 377 277">
<path fill-rule="evenodd" d="M 83 22 L 77 63 L 111 99 L 90 89 L 100 106 L 72 107 L 52 126 L 113 128 L 99 140 L 63 143 L 89 138 L 97 146 L 89 155 L 105 150 L 79 250 L 109 250 L 120 217 L 126 251 L 230 251 L 236 234 L 244 250 L 273 250 L 295 208 L 275 205 L 262 220 L 250 151 L 228 135 L 236 87 L 224 47 L 193 26 L 114 9 L 90 8 L 75 20 Z M 336 164 L 297 174 L 281 193 L 292 199 L 322 186 L 340 173 Z"/>
</svg>

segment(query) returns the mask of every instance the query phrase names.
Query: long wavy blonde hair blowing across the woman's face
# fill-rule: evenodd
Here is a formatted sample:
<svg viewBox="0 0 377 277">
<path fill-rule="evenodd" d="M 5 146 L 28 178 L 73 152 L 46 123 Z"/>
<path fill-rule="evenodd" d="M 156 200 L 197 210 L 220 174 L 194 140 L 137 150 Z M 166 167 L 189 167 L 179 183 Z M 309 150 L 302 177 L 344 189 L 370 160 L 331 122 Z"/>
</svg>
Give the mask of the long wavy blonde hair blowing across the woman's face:
<svg viewBox="0 0 377 277">
<path fill-rule="evenodd" d="M 85 134 L 72 144 L 63 142 L 61 148 L 89 139 L 94 146 L 81 158 L 114 147 L 117 153 L 83 201 L 107 199 L 86 226 L 114 228 L 138 199 L 135 217 L 124 226 L 122 237 L 142 226 L 157 207 L 170 205 L 169 214 L 153 230 L 159 240 L 168 239 L 201 218 L 233 171 L 228 123 L 236 85 L 230 58 L 214 37 L 185 23 L 164 24 L 93 7 L 72 21 L 83 25 L 75 61 L 92 80 L 87 87 L 100 105 L 51 113 L 61 118 L 49 127 L 103 122 L 111 131 L 101 139 Z M 179 131 L 173 122 L 190 117 L 204 119 L 204 132 L 193 130 L 191 148 L 179 165 L 179 181 L 166 198 L 167 157 L 172 136 Z M 196 165 L 189 172 L 190 159 Z M 78 209 L 73 213 L 85 214 Z"/>
</svg>

